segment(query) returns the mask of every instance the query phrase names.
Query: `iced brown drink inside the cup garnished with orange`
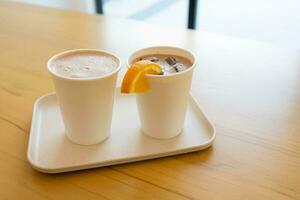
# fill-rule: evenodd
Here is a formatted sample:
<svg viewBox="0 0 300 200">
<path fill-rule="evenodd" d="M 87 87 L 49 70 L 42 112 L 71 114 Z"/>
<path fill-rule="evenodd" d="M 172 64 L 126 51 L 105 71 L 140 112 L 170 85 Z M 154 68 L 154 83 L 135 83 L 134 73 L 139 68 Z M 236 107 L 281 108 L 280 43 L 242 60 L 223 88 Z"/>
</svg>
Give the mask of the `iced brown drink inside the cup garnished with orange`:
<svg viewBox="0 0 300 200">
<path fill-rule="evenodd" d="M 189 61 L 187 58 L 176 56 L 176 55 L 163 55 L 163 54 L 147 55 L 136 59 L 135 62 L 139 60 L 149 60 L 151 62 L 155 62 L 160 66 L 162 66 L 163 73 L 161 75 L 168 75 L 177 72 L 182 72 L 193 65 L 193 63 Z"/>
</svg>

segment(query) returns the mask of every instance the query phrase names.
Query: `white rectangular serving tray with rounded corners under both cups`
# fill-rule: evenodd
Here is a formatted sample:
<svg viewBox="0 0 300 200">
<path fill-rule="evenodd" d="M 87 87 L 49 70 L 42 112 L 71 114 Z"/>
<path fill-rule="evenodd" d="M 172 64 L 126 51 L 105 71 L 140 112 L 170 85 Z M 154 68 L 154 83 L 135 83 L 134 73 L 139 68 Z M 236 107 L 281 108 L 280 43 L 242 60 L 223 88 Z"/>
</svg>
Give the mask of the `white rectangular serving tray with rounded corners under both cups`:
<svg viewBox="0 0 300 200">
<path fill-rule="evenodd" d="M 77 145 L 64 134 L 56 95 L 52 93 L 34 104 L 27 157 L 36 170 L 59 173 L 199 151 L 214 139 L 214 126 L 192 96 L 184 131 L 160 140 L 140 132 L 135 95 L 117 92 L 111 136 L 99 144 Z"/>
</svg>

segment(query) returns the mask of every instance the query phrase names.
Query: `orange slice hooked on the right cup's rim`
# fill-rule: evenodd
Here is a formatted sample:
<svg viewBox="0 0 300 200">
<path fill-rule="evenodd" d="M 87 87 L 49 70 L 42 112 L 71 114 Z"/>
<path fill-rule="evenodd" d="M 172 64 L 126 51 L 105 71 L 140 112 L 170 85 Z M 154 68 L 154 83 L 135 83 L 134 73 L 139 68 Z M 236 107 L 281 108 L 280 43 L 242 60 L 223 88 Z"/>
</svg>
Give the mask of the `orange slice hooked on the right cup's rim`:
<svg viewBox="0 0 300 200">
<path fill-rule="evenodd" d="M 160 74 L 162 68 L 160 65 L 141 60 L 132 64 L 122 81 L 121 93 L 142 93 L 150 89 L 145 74 Z"/>
</svg>

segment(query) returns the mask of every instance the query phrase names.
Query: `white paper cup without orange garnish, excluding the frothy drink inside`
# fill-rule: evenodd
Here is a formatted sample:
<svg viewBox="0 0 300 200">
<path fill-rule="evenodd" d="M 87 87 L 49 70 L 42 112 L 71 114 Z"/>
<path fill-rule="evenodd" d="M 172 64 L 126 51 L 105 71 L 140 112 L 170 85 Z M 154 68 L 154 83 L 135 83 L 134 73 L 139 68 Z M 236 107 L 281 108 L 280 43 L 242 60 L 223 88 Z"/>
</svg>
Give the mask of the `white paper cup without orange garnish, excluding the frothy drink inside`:
<svg viewBox="0 0 300 200">
<path fill-rule="evenodd" d="M 93 52 L 115 58 L 118 66 L 103 76 L 68 78 L 51 69 L 54 60 L 67 54 Z M 65 133 L 76 144 L 91 145 L 105 140 L 110 135 L 112 108 L 120 60 L 115 55 L 93 49 L 76 49 L 59 53 L 49 59 L 47 68 L 51 73 Z"/>
</svg>

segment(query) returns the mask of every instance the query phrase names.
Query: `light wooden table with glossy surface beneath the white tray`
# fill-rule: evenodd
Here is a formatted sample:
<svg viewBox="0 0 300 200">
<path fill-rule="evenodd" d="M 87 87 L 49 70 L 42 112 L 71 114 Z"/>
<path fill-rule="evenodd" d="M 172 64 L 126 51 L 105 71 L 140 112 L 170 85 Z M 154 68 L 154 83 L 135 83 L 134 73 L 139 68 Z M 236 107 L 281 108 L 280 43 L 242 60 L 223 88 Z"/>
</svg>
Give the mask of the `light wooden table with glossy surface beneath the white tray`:
<svg viewBox="0 0 300 200">
<path fill-rule="evenodd" d="M 53 91 L 47 59 L 100 48 L 125 62 L 150 45 L 196 52 L 192 91 L 216 125 L 213 147 L 57 175 L 33 170 L 32 106 Z M 300 199 L 300 52 L 1 1 L 0 199 Z"/>
</svg>

